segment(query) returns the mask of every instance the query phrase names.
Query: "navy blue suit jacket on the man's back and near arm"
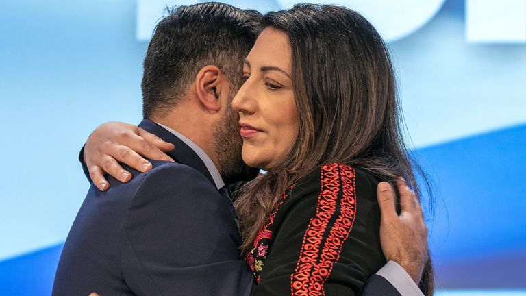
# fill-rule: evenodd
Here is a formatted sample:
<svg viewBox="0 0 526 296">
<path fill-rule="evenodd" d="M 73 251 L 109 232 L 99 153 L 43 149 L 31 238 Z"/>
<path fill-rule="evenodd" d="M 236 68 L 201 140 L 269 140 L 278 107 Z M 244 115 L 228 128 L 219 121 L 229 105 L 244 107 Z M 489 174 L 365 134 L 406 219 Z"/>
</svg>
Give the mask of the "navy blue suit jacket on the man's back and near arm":
<svg viewBox="0 0 526 296">
<path fill-rule="evenodd" d="M 175 145 L 176 161 L 110 189 L 91 186 L 68 235 L 53 295 L 248 295 L 231 201 L 199 156 L 152 121 L 143 129 Z"/>
</svg>

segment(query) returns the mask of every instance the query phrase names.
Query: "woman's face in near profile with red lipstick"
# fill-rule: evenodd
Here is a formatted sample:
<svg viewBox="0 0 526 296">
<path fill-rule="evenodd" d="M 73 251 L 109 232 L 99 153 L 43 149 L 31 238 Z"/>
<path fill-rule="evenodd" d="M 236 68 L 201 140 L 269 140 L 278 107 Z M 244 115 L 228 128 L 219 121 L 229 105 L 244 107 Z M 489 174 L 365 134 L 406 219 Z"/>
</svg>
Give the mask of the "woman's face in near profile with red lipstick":
<svg viewBox="0 0 526 296">
<path fill-rule="evenodd" d="M 299 130 L 288 36 L 264 29 L 245 59 L 243 77 L 245 84 L 232 101 L 240 116 L 243 160 L 251 167 L 276 169 Z"/>
</svg>

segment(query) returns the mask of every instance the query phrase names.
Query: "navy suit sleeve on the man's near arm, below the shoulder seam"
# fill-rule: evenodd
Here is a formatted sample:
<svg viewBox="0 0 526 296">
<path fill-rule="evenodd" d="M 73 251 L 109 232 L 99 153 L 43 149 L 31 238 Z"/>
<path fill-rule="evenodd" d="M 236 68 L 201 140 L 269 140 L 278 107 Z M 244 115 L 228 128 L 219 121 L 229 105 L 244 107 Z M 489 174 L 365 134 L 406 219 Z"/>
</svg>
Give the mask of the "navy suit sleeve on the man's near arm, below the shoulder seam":
<svg viewBox="0 0 526 296">
<path fill-rule="evenodd" d="M 201 173 L 164 164 L 142 181 L 122 238 L 123 277 L 137 295 L 247 295 L 253 276 L 223 197 Z"/>
</svg>

